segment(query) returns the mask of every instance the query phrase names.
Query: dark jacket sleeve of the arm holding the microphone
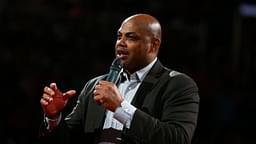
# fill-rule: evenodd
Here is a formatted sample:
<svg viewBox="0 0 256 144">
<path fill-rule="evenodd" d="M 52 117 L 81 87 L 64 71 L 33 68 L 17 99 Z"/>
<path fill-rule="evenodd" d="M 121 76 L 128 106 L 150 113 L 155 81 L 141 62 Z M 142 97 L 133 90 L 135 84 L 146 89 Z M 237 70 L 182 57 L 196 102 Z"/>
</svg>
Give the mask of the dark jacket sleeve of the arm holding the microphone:
<svg viewBox="0 0 256 144">
<path fill-rule="evenodd" d="M 191 78 L 181 74 L 170 77 L 161 87 L 161 90 L 156 90 L 157 99 L 160 100 L 151 104 L 160 107 L 159 117 L 147 112 L 143 106 L 137 109 L 131 127 L 125 134 L 126 138 L 132 143 L 143 144 L 191 143 L 199 112 L 197 85 Z M 150 95 L 147 97 L 150 98 Z"/>
</svg>

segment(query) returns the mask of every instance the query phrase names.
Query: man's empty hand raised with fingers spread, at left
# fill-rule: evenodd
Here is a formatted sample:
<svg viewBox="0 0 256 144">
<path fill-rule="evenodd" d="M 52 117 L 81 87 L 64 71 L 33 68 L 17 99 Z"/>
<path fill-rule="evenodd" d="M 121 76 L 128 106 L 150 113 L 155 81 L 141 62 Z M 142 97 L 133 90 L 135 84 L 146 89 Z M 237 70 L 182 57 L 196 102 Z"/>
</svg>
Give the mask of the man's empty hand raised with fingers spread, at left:
<svg viewBox="0 0 256 144">
<path fill-rule="evenodd" d="M 75 90 L 69 90 L 62 93 L 56 83 L 51 83 L 50 86 L 44 87 L 44 93 L 40 100 L 43 111 L 49 118 L 58 117 L 60 111 L 65 107 L 68 99 L 74 96 Z"/>
</svg>

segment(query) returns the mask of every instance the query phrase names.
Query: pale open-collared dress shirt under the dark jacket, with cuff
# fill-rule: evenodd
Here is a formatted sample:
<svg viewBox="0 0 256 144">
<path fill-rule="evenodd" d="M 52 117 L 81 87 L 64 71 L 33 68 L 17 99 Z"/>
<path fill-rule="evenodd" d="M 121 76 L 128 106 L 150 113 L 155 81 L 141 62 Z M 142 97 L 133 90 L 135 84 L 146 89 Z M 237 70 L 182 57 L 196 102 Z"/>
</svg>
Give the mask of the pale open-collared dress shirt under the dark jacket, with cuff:
<svg viewBox="0 0 256 144">
<path fill-rule="evenodd" d="M 156 60 L 157 58 L 155 58 L 146 67 L 131 74 L 130 79 L 126 79 L 123 83 L 119 84 L 118 89 L 123 95 L 124 101 L 121 103 L 121 107 L 118 107 L 114 113 L 107 110 L 103 129 L 112 127 L 114 129 L 122 130 L 123 126 L 130 128 L 134 112 L 136 111 L 136 107 L 130 103 L 133 100 L 141 82 Z"/>
</svg>

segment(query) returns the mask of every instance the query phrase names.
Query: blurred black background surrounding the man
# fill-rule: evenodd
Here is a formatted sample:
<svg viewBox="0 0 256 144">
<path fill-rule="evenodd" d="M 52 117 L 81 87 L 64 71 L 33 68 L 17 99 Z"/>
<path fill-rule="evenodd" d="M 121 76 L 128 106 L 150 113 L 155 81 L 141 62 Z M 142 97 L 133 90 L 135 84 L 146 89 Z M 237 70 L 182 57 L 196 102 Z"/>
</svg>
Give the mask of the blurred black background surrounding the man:
<svg viewBox="0 0 256 144">
<path fill-rule="evenodd" d="M 256 143 L 253 0 L 1 0 L 1 144 L 36 144 L 45 85 L 78 92 L 104 74 L 116 32 L 131 14 L 159 19 L 159 58 L 200 89 L 194 144 Z M 65 109 L 69 112 L 77 97 Z"/>
</svg>

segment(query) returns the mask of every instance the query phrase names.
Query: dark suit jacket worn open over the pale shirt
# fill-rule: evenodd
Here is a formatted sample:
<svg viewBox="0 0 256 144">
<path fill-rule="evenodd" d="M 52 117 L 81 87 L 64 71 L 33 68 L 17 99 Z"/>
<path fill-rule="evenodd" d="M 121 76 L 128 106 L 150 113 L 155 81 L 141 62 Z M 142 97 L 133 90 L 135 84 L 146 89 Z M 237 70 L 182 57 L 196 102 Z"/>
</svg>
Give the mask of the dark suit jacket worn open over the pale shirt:
<svg viewBox="0 0 256 144">
<path fill-rule="evenodd" d="M 93 100 L 93 89 L 106 75 L 88 81 L 73 111 L 47 137 L 57 144 L 91 143 L 102 128 L 105 109 Z M 141 83 L 132 104 L 137 107 L 123 139 L 131 144 L 188 144 L 199 112 L 195 82 L 183 73 L 165 68 L 158 60 Z M 44 127 L 44 126 L 43 126 Z M 43 128 L 42 128 L 43 129 Z M 41 129 L 41 133 L 44 133 Z"/>
</svg>

